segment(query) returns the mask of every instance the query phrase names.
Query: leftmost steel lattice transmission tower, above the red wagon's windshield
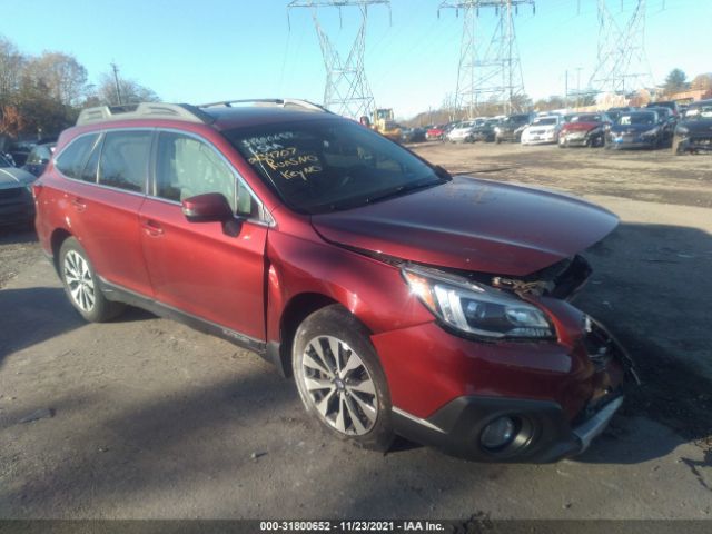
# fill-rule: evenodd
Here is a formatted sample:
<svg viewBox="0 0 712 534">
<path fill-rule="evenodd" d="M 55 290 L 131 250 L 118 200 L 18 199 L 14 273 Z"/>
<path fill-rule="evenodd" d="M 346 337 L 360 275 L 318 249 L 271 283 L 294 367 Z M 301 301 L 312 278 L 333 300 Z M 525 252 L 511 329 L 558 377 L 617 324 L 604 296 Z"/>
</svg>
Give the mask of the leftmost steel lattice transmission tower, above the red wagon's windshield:
<svg viewBox="0 0 712 534">
<path fill-rule="evenodd" d="M 326 68 L 326 86 L 324 88 L 324 107 L 334 112 L 357 119 L 369 116 L 375 108 L 374 97 L 366 79 L 364 52 L 366 50 L 366 22 L 368 6 L 385 4 L 390 12 L 390 0 L 293 0 L 287 6 L 287 16 L 293 8 L 309 8 L 312 20 L 322 47 L 324 67 Z M 318 8 L 338 8 L 339 23 L 342 8 L 355 7 L 359 12 L 359 24 L 346 60 L 339 55 L 319 23 Z"/>
</svg>

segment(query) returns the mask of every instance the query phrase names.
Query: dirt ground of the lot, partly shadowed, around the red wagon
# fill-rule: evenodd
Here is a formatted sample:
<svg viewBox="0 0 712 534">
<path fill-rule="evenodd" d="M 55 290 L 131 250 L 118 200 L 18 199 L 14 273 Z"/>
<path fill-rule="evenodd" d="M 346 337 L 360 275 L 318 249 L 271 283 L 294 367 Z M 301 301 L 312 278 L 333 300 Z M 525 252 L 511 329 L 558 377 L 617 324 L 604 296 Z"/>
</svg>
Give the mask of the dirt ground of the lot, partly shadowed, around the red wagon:
<svg viewBox="0 0 712 534">
<path fill-rule="evenodd" d="M 416 150 L 621 217 L 577 305 L 643 385 L 589 452 L 483 465 L 336 443 L 250 353 L 140 310 L 83 324 L 32 236 L 0 230 L 0 517 L 712 518 L 712 157 Z"/>
</svg>

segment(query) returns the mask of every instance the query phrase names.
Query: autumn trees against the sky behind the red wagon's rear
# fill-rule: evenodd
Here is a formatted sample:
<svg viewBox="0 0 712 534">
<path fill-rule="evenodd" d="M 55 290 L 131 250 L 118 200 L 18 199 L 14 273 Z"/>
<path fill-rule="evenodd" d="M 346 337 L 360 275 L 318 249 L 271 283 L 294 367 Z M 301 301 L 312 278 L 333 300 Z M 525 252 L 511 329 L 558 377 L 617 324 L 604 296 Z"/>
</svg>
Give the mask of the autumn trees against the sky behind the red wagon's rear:
<svg viewBox="0 0 712 534">
<path fill-rule="evenodd" d="M 73 56 L 26 55 L 0 36 L 0 136 L 55 138 L 83 108 L 158 100 L 151 89 L 110 70 L 90 83 L 87 69 Z"/>
</svg>

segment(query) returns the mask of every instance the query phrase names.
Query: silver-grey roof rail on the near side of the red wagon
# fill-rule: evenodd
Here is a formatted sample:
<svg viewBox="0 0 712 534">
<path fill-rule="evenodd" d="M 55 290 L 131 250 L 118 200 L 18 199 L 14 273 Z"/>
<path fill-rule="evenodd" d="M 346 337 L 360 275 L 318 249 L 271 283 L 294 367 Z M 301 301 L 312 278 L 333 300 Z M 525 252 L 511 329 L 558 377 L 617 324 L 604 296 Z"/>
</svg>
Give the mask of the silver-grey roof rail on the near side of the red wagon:
<svg viewBox="0 0 712 534">
<path fill-rule="evenodd" d="M 126 106 L 99 106 L 82 109 L 77 126 L 126 119 L 177 119 L 210 123 L 215 118 L 188 103 L 141 102 Z"/>
</svg>

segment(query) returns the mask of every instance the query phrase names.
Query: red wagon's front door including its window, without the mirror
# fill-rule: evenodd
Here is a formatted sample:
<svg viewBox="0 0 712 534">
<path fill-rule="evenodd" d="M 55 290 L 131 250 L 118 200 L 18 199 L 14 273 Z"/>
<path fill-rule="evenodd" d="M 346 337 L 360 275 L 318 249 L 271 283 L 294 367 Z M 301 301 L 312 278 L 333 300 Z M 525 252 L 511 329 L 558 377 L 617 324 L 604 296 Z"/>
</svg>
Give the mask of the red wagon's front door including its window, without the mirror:
<svg viewBox="0 0 712 534">
<path fill-rule="evenodd" d="M 151 190 L 141 206 L 141 243 L 156 298 L 254 340 L 265 340 L 261 206 L 227 158 L 207 140 L 160 131 Z M 180 201 L 222 194 L 240 216 L 239 234 L 220 222 L 189 222 Z"/>
</svg>

